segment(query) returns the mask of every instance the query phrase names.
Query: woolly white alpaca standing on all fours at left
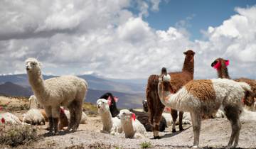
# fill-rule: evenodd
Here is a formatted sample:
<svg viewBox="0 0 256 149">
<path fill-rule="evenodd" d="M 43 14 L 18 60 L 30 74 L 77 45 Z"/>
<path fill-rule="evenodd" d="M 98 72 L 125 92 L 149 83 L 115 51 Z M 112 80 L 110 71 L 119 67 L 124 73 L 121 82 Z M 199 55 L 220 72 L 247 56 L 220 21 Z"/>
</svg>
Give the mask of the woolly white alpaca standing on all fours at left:
<svg viewBox="0 0 256 149">
<path fill-rule="evenodd" d="M 38 103 L 46 110 L 49 118 L 49 134 L 58 133 L 60 106 L 70 110 L 68 131 L 76 131 L 82 115 L 82 103 L 88 85 L 84 79 L 75 76 L 53 77 L 43 80 L 41 63 L 35 58 L 26 60 L 26 72 Z M 54 131 L 54 132 L 53 132 Z"/>
</svg>

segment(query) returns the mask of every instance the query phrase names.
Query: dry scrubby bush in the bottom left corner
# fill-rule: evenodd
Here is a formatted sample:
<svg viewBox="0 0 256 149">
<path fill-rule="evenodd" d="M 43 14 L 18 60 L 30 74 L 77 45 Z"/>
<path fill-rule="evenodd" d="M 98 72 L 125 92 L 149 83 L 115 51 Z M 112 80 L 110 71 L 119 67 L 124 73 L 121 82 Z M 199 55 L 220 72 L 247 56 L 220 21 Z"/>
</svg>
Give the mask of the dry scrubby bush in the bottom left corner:
<svg viewBox="0 0 256 149">
<path fill-rule="evenodd" d="M 0 131 L 0 144 L 11 147 L 28 145 L 39 138 L 36 128 L 29 125 L 2 125 Z"/>
</svg>

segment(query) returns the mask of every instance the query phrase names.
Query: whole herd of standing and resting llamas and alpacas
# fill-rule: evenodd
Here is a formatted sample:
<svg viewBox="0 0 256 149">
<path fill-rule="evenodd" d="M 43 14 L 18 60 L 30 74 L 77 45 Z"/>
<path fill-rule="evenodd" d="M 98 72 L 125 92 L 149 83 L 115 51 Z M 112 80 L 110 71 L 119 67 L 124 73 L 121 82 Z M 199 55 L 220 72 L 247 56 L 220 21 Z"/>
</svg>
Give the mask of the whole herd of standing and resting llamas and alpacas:
<svg viewBox="0 0 256 149">
<path fill-rule="evenodd" d="M 152 131 L 154 138 L 160 139 L 159 131 L 165 131 L 167 126 L 172 125 L 172 131 L 176 132 L 178 118 L 179 131 L 183 131 L 183 123 L 192 124 L 193 148 L 198 148 L 202 119 L 219 113 L 225 114 L 232 128 L 227 148 L 236 147 L 241 129 L 240 115 L 245 113 L 244 108 L 256 109 L 255 79 L 230 79 L 229 60 L 218 58 L 211 64 L 218 72 L 218 79 L 194 80 L 195 53 L 187 50 L 183 54 L 181 72 L 167 72 L 163 67 L 159 75 L 149 77 L 146 100 L 142 102 L 144 111 L 119 110 L 117 97 L 110 92 L 100 96 L 96 102 L 102 120 L 100 132 L 124 133 L 125 138 L 137 138 Z M 41 62 L 35 58 L 26 60 L 26 72 L 34 94 L 28 99 L 30 109 L 23 114 L 22 121 L 11 113 L 0 114 L 0 123 L 44 125 L 48 121 L 48 134 L 56 135 L 60 130 L 77 131 L 79 124 L 87 121 L 82 111 L 88 90 L 84 79 L 70 75 L 44 80 Z M 165 107 L 171 108 L 171 114 L 164 113 Z"/>
</svg>

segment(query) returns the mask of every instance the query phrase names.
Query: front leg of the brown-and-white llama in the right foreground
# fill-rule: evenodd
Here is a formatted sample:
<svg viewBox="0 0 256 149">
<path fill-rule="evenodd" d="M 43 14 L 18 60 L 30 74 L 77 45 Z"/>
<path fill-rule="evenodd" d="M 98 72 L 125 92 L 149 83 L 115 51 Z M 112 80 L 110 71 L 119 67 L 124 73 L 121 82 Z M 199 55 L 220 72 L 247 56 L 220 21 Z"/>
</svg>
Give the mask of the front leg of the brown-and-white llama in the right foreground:
<svg viewBox="0 0 256 149">
<path fill-rule="evenodd" d="M 193 141 L 192 148 L 198 148 L 200 128 L 201 128 L 201 116 L 199 114 L 191 113 L 191 119 L 192 119 L 192 125 L 193 125 L 193 135 L 194 135 L 194 141 Z"/>
</svg>

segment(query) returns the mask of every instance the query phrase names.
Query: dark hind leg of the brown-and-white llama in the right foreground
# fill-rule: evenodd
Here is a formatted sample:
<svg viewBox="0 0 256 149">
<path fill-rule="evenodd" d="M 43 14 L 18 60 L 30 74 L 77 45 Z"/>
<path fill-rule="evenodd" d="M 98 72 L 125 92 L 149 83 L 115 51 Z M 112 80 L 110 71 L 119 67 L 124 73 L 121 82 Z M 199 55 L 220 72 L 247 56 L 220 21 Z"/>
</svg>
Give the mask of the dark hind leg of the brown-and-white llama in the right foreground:
<svg viewBox="0 0 256 149">
<path fill-rule="evenodd" d="M 230 140 L 228 141 L 228 145 L 227 145 L 227 148 L 231 148 L 234 140 L 235 140 L 235 143 L 233 146 L 235 147 L 236 145 L 238 145 L 239 133 L 241 128 L 241 123 L 239 120 L 240 111 L 237 107 L 234 107 L 234 106 L 225 106 L 224 111 L 225 111 L 225 115 L 230 121 L 231 128 L 232 128 Z"/>
</svg>

